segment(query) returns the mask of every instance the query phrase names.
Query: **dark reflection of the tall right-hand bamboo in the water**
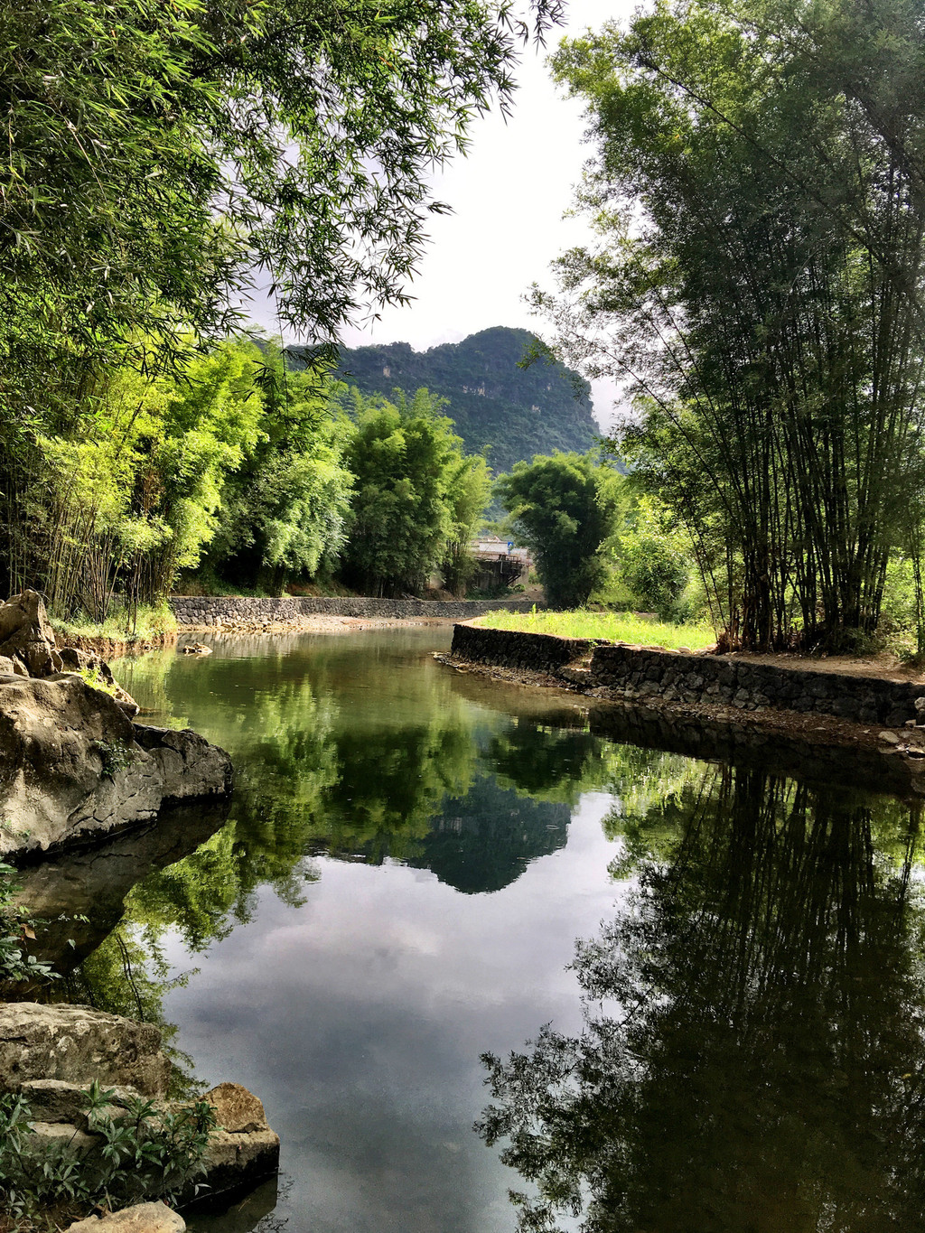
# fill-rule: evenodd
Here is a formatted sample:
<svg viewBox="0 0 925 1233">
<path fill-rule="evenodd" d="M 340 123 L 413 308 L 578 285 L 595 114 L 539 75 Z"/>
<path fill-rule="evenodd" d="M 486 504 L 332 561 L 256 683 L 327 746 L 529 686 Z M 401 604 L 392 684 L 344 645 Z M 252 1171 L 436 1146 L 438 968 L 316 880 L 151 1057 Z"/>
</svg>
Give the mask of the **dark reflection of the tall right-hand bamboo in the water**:
<svg viewBox="0 0 925 1233">
<path fill-rule="evenodd" d="M 701 767 L 609 825 L 638 882 L 578 943 L 582 1033 L 485 1059 L 520 1228 L 921 1227 L 918 806 Z"/>
</svg>

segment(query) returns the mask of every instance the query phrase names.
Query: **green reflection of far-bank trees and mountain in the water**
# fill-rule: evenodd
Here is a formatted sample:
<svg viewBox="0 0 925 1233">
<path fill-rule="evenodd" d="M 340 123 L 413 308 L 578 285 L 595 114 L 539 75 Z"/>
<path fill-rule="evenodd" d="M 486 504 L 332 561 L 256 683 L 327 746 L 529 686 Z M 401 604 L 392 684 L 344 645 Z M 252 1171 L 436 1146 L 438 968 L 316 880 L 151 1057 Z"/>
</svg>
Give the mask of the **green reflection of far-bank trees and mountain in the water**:
<svg viewBox="0 0 925 1233">
<path fill-rule="evenodd" d="M 192 810 L 173 830 L 33 872 L 23 898 L 70 917 L 44 940 L 68 973 L 48 996 L 155 1022 L 169 1042 L 164 999 L 196 969 L 170 972 L 168 932 L 199 963 L 253 919 L 260 888 L 301 906 L 317 857 L 400 861 L 466 894 L 498 891 L 562 848 L 581 792 L 615 774 L 619 747 L 582 726 L 561 731 L 470 703 L 421 639 L 290 642 L 118 666 L 153 723 L 191 724 L 231 752 L 234 803 L 221 830 Z M 191 1059 L 175 1051 L 174 1060 L 186 1081 Z"/>
</svg>

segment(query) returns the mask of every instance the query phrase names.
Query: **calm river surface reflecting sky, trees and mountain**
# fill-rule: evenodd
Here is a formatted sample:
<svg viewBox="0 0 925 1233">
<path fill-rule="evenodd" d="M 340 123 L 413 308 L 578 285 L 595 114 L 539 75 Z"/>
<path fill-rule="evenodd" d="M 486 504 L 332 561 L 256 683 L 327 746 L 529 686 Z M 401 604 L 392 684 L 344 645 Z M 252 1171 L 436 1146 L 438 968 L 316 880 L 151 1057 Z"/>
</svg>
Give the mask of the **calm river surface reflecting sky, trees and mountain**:
<svg viewBox="0 0 925 1233">
<path fill-rule="evenodd" d="M 538 1229 L 921 1227 L 915 808 L 601 740 L 587 699 L 435 663 L 449 636 L 117 667 L 237 768 L 223 825 L 97 878 L 68 981 L 281 1136 L 279 1192 L 190 1227 L 513 1233 L 538 1182 Z"/>
</svg>

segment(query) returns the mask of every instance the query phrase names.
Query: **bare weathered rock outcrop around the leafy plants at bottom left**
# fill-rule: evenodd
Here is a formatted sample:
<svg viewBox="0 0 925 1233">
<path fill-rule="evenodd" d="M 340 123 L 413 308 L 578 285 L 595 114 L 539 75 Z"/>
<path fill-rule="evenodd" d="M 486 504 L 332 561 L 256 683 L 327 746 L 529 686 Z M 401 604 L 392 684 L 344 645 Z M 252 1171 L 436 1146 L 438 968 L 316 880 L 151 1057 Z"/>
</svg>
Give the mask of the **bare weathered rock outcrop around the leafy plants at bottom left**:
<svg viewBox="0 0 925 1233">
<path fill-rule="evenodd" d="M 67 1142 L 88 1154 L 99 1149 L 102 1141 L 89 1132 L 84 1113 L 94 1080 L 113 1089 L 117 1117 L 136 1097 L 153 1101 L 155 1111 L 176 1108 L 178 1102 L 166 1100 L 169 1078 L 170 1062 L 152 1023 L 89 1006 L 0 1004 L 0 1089 L 20 1092 L 30 1102 L 35 1132 L 48 1143 Z M 280 1141 L 257 1096 L 224 1083 L 204 1099 L 217 1122 L 205 1174 L 197 1179 L 208 1187 L 210 1198 L 275 1173 Z"/>
</svg>

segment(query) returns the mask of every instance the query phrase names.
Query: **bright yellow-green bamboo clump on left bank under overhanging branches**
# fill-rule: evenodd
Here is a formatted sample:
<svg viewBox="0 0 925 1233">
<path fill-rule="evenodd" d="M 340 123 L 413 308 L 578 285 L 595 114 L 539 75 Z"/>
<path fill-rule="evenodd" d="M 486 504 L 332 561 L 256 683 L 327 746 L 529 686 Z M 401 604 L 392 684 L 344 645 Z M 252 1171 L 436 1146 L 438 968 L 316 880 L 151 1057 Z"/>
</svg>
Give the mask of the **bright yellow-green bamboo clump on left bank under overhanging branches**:
<svg viewBox="0 0 925 1233">
<path fill-rule="evenodd" d="M 91 422 L 37 436 L 41 494 L 16 526 L 16 584 L 39 578 L 56 619 L 102 624 L 117 593 L 132 618 L 160 602 L 199 561 L 226 476 L 257 439 L 258 359 L 249 343 L 201 353 L 186 339 L 181 376 L 113 369 Z"/>
</svg>

